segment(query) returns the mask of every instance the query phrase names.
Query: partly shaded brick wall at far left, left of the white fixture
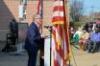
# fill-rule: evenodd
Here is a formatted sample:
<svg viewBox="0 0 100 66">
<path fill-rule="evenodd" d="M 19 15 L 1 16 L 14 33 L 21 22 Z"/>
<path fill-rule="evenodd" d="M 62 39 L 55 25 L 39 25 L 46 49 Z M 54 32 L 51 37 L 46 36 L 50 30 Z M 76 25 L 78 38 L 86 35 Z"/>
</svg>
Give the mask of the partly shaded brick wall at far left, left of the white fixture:
<svg viewBox="0 0 100 66">
<path fill-rule="evenodd" d="M 0 0 L 0 40 L 6 39 L 9 32 L 9 22 L 12 18 L 17 19 L 18 0 Z"/>
</svg>

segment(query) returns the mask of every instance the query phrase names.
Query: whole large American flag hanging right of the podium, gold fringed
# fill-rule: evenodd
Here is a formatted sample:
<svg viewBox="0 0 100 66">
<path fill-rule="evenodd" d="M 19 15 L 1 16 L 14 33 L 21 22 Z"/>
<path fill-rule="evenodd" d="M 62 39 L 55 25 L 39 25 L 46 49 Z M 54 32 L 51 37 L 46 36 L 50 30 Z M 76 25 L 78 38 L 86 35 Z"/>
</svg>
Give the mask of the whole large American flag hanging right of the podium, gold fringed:
<svg viewBox="0 0 100 66">
<path fill-rule="evenodd" d="M 67 66 L 69 57 L 67 23 L 64 0 L 55 0 L 52 17 L 52 66 Z"/>
</svg>

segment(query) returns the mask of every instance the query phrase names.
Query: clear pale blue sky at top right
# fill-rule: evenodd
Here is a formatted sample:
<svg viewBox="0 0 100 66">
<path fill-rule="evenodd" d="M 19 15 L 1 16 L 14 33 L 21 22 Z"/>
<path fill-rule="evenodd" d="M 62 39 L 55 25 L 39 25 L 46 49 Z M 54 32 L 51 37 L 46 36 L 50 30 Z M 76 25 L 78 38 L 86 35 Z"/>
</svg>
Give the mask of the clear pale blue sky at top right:
<svg viewBox="0 0 100 66">
<path fill-rule="evenodd" d="M 74 0 L 70 0 L 71 2 Z M 84 4 L 84 14 L 89 15 L 91 12 L 100 11 L 100 0 L 78 0 L 83 1 Z"/>
</svg>

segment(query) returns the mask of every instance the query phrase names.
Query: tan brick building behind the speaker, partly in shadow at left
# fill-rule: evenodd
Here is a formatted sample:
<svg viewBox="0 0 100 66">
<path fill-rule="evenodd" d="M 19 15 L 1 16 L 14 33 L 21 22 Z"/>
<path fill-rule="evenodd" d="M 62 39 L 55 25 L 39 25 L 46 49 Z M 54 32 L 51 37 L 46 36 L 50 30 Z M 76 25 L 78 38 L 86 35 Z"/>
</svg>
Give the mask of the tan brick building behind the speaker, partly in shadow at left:
<svg viewBox="0 0 100 66">
<path fill-rule="evenodd" d="M 37 4 L 37 0 L 28 0 L 24 22 L 32 22 L 32 16 L 37 11 Z M 19 22 L 19 5 L 20 0 L 0 0 L 0 40 L 5 40 L 6 34 L 9 32 L 9 22 L 12 18 L 15 18 Z M 44 0 L 43 25 L 51 24 L 52 5 L 53 1 Z M 49 31 L 43 29 L 43 33 L 49 34 Z"/>
</svg>

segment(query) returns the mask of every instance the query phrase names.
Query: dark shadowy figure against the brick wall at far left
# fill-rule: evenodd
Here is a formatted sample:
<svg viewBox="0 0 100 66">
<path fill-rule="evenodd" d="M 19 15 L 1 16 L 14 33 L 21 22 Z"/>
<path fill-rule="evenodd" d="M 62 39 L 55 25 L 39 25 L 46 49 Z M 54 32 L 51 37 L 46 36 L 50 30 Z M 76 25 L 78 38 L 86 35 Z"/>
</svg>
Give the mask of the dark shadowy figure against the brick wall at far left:
<svg viewBox="0 0 100 66">
<path fill-rule="evenodd" d="M 2 52 L 10 52 L 16 50 L 16 41 L 18 40 L 18 23 L 15 19 L 9 24 L 10 33 L 7 34 L 7 41 L 5 47 L 2 49 Z M 12 47 L 12 46 L 13 47 Z"/>
</svg>

